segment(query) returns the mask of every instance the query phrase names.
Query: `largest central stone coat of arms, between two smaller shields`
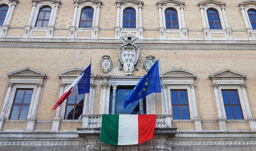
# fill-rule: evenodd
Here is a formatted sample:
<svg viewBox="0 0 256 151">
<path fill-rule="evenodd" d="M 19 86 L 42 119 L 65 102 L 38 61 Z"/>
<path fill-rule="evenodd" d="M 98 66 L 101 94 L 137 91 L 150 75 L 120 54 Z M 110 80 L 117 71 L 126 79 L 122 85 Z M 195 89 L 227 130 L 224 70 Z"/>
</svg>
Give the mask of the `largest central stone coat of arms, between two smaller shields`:
<svg viewBox="0 0 256 151">
<path fill-rule="evenodd" d="M 138 38 L 133 36 L 131 32 L 128 32 L 126 36 L 122 36 L 121 41 L 124 43 L 118 48 L 118 56 L 123 70 L 126 75 L 131 75 L 135 68 L 135 64 L 138 62 L 140 50 L 135 44 Z M 118 69 L 121 69 L 118 62 Z M 137 66 L 138 69 L 138 66 Z M 139 69 L 138 69 L 139 70 Z"/>
</svg>

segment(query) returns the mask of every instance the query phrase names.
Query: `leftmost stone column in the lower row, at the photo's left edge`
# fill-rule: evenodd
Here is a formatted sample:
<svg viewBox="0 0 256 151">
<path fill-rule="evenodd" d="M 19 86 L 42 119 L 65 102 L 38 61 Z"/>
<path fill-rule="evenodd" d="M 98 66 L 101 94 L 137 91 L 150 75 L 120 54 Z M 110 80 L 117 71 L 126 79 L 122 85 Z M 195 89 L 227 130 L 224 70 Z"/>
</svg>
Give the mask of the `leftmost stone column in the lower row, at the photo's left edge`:
<svg viewBox="0 0 256 151">
<path fill-rule="evenodd" d="M 8 108 L 8 104 L 9 104 L 9 98 L 10 98 L 13 86 L 14 86 L 14 83 L 12 83 L 12 82 L 8 83 L 8 90 L 7 90 L 7 94 L 5 96 L 5 99 L 4 99 L 4 105 L 3 105 L 1 115 L 0 115 L 0 131 L 2 131 L 2 129 L 3 129 L 5 118 L 7 118 L 6 112 L 7 112 L 7 108 Z"/>
</svg>

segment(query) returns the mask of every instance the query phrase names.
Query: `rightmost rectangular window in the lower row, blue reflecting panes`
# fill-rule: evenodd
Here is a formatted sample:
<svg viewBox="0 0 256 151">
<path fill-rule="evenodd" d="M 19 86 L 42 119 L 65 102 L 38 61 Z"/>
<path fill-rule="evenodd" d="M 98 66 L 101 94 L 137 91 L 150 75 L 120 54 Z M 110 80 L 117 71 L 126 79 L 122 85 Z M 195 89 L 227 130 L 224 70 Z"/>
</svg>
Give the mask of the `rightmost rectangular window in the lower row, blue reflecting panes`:
<svg viewBox="0 0 256 151">
<path fill-rule="evenodd" d="M 237 90 L 222 90 L 222 97 L 227 119 L 242 120 L 243 116 Z"/>
</svg>

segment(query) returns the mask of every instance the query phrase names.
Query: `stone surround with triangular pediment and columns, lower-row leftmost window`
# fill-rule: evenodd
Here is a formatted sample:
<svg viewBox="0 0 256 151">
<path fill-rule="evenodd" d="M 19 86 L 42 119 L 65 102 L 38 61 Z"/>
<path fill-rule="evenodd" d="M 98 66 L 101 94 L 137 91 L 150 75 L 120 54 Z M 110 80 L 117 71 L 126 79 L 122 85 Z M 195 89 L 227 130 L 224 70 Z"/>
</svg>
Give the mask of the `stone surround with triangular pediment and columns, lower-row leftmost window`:
<svg viewBox="0 0 256 151">
<path fill-rule="evenodd" d="M 6 121 L 27 121 L 26 130 L 33 131 L 41 89 L 43 87 L 44 79 L 47 78 L 47 76 L 30 67 L 7 73 L 7 76 L 10 78 L 10 81 L 8 82 L 8 91 L 0 115 L 0 130 L 3 128 L 3 124 Z M 33 89 L 26 120 L 9 119 L 17 89 Z"/>
</svg>

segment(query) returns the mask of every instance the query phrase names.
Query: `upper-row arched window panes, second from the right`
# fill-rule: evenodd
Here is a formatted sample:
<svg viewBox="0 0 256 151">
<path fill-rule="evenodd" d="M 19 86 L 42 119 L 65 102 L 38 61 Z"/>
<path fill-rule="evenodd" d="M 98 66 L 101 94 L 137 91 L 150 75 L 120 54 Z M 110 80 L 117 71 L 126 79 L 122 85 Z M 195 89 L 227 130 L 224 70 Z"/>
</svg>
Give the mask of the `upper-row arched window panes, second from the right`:
<svg viewBox="0 0 256 151">
<path fill-rule="evenodd" d="M 222 29 L 221 21 L 219 20 L 219 13 L 214 9 L 207 10 L 208 22 L 210 25 L 210 29 Z"/>
</svg>

